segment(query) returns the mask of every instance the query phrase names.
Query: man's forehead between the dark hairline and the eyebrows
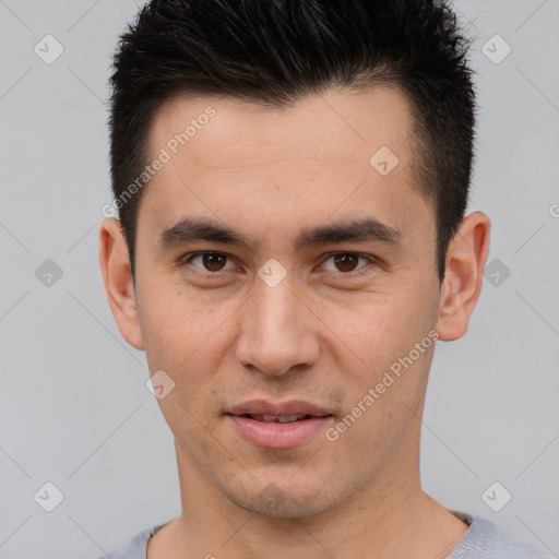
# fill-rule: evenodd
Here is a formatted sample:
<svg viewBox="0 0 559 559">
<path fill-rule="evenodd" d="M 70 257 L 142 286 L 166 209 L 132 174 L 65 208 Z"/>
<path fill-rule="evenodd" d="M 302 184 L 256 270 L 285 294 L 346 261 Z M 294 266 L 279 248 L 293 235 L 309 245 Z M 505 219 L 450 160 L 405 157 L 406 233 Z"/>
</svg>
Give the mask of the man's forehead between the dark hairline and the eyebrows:
<svg viewBox="0 0 559 559">
<path fill-rule="evenodd" d="M 426 211 L 431 217 L 414 189 L 411 130 L 408 102 L 394 87 L 328 91 L 273 108 L 236 98 L 175 99 L 153 120 L 151 155 L 165 151 L 168 162 L 142 205 L 158 230 L 187 211 L 231 224 L 233 207 L 247 227 L 255 212 L 262 227 L 320 223 L 333 213 L 359 217 L 366 210 L 409 230 Z"/>
</svg>

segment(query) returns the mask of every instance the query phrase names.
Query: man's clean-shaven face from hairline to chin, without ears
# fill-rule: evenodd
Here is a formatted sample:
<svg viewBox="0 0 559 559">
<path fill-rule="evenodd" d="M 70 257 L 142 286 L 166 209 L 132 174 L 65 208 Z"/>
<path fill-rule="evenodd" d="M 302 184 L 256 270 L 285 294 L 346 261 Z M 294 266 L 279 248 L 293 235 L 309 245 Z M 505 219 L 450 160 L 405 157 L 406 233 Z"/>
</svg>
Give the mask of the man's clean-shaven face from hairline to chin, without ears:
<svg viewBox="0 0 559 559">
<path fill-rule="evenodd" d="M 209 106 L 215 116 L 197 120 Z M 192 119 L 207 123 L 173 154 L 169 140 Z M 284 109 L 182 99 L 157 114 L 152 155 L 171 157 L 139 211 L 139 320 L 151 373 L 176 383 L 159 403 L 179 465 L 215 495 L 305 516 L 376 476 L 405 476 L 433 349 L 421 341 L 439 302 L 435 215 L 412 188 L 413 141 L 392 88 Z M 164 234 L 187 218 L 247 246 L 189 238 L 188 227 Z M 370 222 L 361 237 L 312 235 L 366 219 L 392 237 Z M 261 420 L 306 412 L 325 417 Z"/>
</svg>

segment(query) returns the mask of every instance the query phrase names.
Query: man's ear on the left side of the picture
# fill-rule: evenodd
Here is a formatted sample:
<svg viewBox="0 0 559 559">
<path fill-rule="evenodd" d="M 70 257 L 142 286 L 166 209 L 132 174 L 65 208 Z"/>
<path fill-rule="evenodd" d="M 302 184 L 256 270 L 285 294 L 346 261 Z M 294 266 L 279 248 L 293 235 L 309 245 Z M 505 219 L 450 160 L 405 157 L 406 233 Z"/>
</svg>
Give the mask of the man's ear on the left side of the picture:
<svg viewBox="0 0 559 559">
<path fill-rule="evenodd" d="M 131 346 L 143 349 L 128 246 L 120 222 L 112 217 L 100 224 L 99 263 L 107 299 L 120 333 Z"/>
</svg>

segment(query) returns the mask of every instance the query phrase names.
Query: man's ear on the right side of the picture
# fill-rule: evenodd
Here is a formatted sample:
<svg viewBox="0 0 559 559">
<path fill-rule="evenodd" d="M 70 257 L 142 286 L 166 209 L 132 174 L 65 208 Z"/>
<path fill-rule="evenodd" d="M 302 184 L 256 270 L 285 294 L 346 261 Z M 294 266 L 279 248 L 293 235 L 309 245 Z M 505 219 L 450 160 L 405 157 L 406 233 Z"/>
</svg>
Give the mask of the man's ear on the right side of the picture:
<svg viewBox="0 0 559 559">
<path fill-rule="evenodd" d="M 466 333 L 481 293 L 490 229 L 489 217 L 474 212 L 464 217 L 449 243 L 436 328 L 441 341 L 457 340 Z"/>
</svg>

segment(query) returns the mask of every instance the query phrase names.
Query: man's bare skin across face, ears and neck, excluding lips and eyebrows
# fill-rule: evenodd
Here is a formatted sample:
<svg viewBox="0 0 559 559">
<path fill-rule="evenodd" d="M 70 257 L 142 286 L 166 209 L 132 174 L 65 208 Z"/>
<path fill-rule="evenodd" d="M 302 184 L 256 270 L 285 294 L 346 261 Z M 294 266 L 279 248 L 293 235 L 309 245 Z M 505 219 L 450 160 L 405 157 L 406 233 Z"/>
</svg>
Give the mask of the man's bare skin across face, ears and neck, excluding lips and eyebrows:
<svg viewBox="0 0 559 559">
<path fill-rule="evenodd" d="M 463 219 L 440 285 L 435 214 L 414 189 L 411 116 L 395 88 L 329 91 L 285 109 L 175 100 L 154 121 L 154 157 L 207 106 L 213 119 L 145 187 L 135 289 L 119 223 L 100 228 L 120 332 L 145 349 L 151 374 L 164 370 L 176 383 L 158 402 L 175 437 L 182 513 L 150 540 L 148 559 L 447 557 L 467 525 L 419 476 L 436 344 L 416 352 L 365 412 L 362 401 L 429 332 L 439 341 L 466 332 L 489 218 Z M 381 146 L 399 158 L 386 176 L 369 163 Z M 159 242 L 186 216 L 234 229 L 249 247 Z M 368 217 L 397 229 L 397 241 L 296 249 L 304 228 Z M 188 261 L 207 251 L 221 254 L 210 266 L 203 257 Z M 274 287 L 258 275 L 270 259 L 286 273 Z M 225 415 L 249 399 L 302 400 L 332 417 L 300 444 L 262 448 Z M 326 428 L 359 402 L 358 419 L 329 440 Z"/>
</svg>

